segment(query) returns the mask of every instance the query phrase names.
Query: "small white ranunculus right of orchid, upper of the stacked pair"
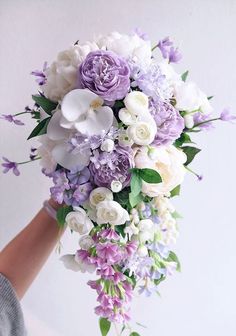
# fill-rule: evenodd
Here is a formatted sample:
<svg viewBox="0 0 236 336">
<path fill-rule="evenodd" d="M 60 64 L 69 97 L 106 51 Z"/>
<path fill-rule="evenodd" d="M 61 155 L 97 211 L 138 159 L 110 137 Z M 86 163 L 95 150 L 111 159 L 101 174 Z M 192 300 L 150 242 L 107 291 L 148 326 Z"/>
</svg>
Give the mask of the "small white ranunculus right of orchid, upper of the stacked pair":
<svg viewBox="0 0 236 336">
<path fill-rule="evenodd" d="M 148 112 L 148 96 L 140 91 L 132 91 L 124 99 L 125 107 L 130 113 L 140 115 Z"/>
</svg>

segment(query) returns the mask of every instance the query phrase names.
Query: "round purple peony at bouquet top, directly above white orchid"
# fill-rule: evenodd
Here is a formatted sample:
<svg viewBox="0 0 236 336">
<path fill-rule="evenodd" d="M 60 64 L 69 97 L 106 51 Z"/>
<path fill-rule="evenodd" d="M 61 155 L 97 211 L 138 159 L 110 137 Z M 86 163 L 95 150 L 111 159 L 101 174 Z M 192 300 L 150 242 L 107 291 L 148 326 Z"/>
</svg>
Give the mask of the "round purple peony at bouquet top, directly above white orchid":
<svg viewBox="0 0 236 336">
<path fill-rule="evenodd" d="M 130 88 L 130 70 L 125 59 L 112 51 L 90 52 L 79 68 L 79 81 L 106 101 L 126 96 Z"/>
</svg>

